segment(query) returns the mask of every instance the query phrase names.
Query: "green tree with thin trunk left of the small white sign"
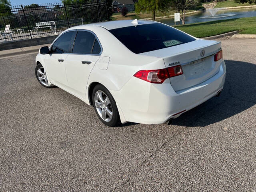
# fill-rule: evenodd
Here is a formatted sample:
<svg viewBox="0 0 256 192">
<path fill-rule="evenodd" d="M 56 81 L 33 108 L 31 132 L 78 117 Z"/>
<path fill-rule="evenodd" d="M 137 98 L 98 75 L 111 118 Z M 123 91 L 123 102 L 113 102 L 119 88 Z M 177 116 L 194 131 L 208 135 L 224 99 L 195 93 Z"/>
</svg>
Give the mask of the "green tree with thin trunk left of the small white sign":
<svg viewBox="0 0 256 192">
<path fill-rule="evenodd" d="M 153 20 L 156 20 L 156 11 L 166 10 L 170 0 L 139 0 L 135 4 L 135 11 L 137 14 L 142 12 L 152 12 Z"/>
</svg>

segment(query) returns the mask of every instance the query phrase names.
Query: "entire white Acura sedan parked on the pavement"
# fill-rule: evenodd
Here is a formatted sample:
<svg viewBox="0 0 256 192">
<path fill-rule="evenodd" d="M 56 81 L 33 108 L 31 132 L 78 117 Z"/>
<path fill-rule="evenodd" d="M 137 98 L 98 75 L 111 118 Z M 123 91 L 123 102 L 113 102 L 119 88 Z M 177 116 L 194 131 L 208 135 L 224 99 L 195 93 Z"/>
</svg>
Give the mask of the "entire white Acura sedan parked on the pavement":
<svg viewBox="0 0 256 192">
<path fill-rule="evenodd" d="M 221 43 L 144 20 L 87 24 L 62 32 L 36 56 L 36 77 L 93 105 L 107 126 L 161 124 L 223 88 Z"/>
</svg>

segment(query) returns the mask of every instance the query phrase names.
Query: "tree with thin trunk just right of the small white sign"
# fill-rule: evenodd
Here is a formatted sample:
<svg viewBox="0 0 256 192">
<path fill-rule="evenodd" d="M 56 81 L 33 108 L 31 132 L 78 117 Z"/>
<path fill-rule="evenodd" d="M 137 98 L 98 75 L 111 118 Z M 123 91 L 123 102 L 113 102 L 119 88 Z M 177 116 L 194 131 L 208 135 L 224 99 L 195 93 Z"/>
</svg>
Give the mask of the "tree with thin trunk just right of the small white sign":
<svg viewBox="0 0 256 192">
<path fill-rule="evenodd" d="M 186 10 L 198 6 L 198 4 L 200 4 L 200 0 L 172 0 L 172 8 L 177 12 L 182 12 L 180 19 L 182 20 L 183 25 L 185 24 Z"/>
</svg>

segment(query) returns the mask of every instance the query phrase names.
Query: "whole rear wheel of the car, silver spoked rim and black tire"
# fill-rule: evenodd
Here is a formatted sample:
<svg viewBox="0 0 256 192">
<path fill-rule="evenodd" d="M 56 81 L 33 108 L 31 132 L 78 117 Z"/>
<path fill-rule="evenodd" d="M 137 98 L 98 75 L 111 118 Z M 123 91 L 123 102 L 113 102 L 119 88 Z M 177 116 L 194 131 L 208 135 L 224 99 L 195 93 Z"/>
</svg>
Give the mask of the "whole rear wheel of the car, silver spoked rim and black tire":
<svg viewBox="0 0 256 192">
<path fill-rule="evenodd" d="M 110 92 L 103 85 L 96 85 L 93 92 L 93 106 L 98 118 L 106 126 L 118 126 L 120 117 L 116 102 Z"/>
</svg>

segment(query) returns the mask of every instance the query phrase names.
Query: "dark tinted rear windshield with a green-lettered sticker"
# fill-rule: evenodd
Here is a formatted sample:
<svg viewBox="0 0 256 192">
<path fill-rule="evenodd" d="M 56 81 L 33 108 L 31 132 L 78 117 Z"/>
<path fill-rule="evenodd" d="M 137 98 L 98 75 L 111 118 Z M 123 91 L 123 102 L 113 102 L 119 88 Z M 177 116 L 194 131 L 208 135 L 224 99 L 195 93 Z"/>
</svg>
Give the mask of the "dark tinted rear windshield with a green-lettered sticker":
<svg viewBox="0 0 256 192">
<path fill-rule="evenodd" d="M 196 40 L 175 28 L 160 23 L 129 26 L 109 31 L 136 54 Z"/>
</svg>

